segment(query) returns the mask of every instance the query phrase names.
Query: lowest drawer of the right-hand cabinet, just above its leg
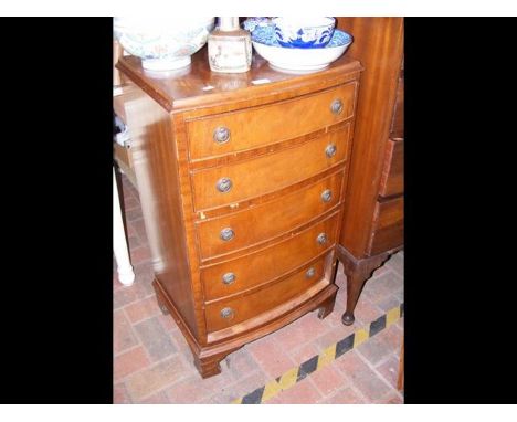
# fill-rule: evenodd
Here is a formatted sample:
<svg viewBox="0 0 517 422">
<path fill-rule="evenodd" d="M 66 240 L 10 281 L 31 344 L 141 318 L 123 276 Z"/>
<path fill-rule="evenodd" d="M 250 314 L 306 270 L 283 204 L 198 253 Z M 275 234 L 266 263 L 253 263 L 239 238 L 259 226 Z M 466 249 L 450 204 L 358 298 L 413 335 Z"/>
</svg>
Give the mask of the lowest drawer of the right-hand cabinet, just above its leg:
<svg viewBox="0 0 517 422">
<path fill-rule="evenodd" d="M 404 243 L 404 198 L 377 202 L 374 215 L 370 255 L 401 246 Z"/>
</svg>

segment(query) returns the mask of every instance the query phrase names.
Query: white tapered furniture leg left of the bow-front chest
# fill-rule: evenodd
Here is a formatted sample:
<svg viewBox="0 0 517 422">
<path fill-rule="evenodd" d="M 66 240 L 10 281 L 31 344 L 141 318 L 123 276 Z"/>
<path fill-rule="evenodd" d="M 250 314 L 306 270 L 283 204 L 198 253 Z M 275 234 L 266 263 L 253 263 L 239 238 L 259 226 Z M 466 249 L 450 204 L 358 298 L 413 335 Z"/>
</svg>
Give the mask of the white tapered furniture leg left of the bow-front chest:
<svg viewBox="0 0 517 422">
<path fill-rule="evenodd" d="M 135 281 L 135 273 L 127 250 L 115 169 L 113 169 L 113 252 L 117 262 L 118 281 L 125 286 L 130 286 Z"/>
</svg>

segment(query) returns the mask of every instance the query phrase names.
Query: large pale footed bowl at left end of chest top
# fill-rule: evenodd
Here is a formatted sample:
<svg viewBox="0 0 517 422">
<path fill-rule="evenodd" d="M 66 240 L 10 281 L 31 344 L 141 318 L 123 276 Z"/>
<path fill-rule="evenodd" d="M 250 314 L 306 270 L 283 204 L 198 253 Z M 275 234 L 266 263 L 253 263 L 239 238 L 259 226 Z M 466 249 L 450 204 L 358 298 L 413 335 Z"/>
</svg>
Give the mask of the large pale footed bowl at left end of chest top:
<svg viewBox="0 0 517 422">
<path fill-rule="evenodd" d="M 144 68 L 171 71 L 188 66 L 208 41 L 215 19 L 188 17 L 114 18 L 114 34 Z"/>
</svg>

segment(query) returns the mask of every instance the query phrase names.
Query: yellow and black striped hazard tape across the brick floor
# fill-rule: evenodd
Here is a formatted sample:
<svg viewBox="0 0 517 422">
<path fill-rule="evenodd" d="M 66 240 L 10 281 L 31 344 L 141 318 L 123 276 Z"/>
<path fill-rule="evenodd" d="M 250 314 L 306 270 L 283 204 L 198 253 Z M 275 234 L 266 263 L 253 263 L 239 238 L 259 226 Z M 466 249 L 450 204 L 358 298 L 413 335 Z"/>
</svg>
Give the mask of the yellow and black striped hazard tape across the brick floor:
<svg viewBox="0 0 517 422">
<path fill-rule="evenodd" d="M 359 328 L 344 339 L 327 347 L 321 354 L 313 356 L 298 367 L 289 369 L 287 372 L 267 382 L 265 386 L 236 399 L 232 404 L 261 404 L 278 394 L 281 391 L 292 388 L 308 374 L 326 367 L 347 351 L 358 347 L 370 337 L 397 323 L 404 315 L 404 304 L 388 310 L 384 315 L 370 323 L 368 328 Z"/>
</svg>

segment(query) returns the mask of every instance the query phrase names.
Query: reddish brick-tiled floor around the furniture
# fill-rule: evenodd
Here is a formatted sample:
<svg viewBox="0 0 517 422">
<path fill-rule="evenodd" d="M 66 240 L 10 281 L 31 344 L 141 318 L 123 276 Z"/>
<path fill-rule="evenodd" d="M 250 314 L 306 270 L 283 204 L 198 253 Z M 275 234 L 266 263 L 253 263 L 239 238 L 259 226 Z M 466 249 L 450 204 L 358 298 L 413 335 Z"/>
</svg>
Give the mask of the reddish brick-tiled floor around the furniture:
<svg viewBox="0 0 517 422">
<path fill-rule="evenodd" d="M 122 180 L 136 279 L 130 287 L 119 284 L 114 263 L 114 403 L 230 403 L 403 302 L 400 252 L 367 282 L 356 324 L 344 326 L 346 278 L 340 265 L 336 306 L 327 318 L 309 313 L 231 354 L 221 363 L 221 374 L 203 380 L 176 323 L 156 303 L 138 192 Z M 403 318 L 265 403 L 402 403 L 395 388 L 402 336 Z"/>
</svg>

